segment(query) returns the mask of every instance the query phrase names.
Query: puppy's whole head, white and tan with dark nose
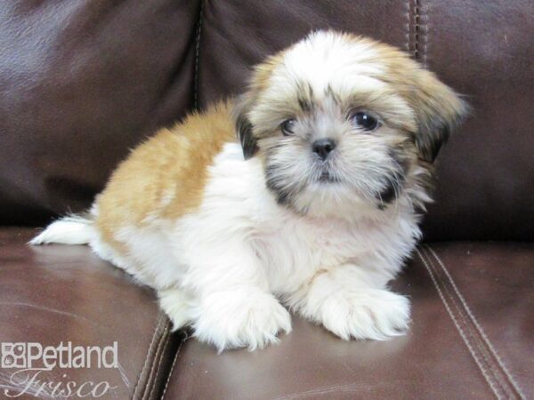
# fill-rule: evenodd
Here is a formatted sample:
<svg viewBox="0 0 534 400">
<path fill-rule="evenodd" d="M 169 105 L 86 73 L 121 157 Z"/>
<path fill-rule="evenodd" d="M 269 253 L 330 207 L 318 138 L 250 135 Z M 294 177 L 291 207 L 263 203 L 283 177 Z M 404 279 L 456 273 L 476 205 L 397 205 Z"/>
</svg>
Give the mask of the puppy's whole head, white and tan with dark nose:
<svg viewBox="0 0 534 400">
<path fill-rule="evenodd" d="M 422 205 L 425 176 L 465 113 L 433 73 L 389 45 L 320 31 L 255 68 L 235 107 L 246 158 L 279 204 L 312 215 Z"/>
</svg>

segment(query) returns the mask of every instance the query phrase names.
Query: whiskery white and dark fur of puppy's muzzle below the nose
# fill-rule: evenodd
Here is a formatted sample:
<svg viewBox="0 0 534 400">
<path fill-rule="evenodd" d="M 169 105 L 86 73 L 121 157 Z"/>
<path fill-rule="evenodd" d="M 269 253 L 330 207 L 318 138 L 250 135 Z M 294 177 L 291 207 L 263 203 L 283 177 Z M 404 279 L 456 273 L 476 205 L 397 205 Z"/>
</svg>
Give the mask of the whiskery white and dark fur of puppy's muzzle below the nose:
<svg viewBox="0 0 534 400">
<path fill-rule="evenodd" d="M 343 212 L 349 218 L 352 213 L 387 209 L 391 216 L 405 206 L 424 206 L 430 198 L 419 180 L 426 175 L 402 155 L 380 153 L 348 158 L 345 152 L 325 161 L 273 154 L 266 160 L 267 187 L 279 204 L 300 214 Z"/>
</svg>

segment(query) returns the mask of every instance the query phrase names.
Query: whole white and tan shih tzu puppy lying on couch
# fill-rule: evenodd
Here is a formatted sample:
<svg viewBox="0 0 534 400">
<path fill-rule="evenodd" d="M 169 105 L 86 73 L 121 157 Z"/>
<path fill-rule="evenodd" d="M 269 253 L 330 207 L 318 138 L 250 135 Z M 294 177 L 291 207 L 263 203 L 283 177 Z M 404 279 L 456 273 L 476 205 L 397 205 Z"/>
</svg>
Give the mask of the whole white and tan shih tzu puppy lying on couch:
<svg viewBox="0 0 534 400">
<path fill-rule="evenodd" d="M 464 114 L 406 53 L 314 32 L 258 65 L 238 99 L 135 148 L 90 212 L 30 243 L 89 244 L 219 350 L 276 342 L 287 308 L 344 340 L 383 340 L 409 324 L 387 285 Z"/>
</svg>

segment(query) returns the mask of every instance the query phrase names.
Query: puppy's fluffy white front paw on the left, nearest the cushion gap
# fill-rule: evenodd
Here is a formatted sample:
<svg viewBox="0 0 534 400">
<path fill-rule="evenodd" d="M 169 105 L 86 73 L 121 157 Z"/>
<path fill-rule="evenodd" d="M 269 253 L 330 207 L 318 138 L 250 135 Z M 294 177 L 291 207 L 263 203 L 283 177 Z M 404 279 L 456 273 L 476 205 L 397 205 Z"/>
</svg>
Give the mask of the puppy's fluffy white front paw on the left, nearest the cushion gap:
<svg viewBox="0 0 534 400">
<path fill-rule="evenodd" d="M 270 293 L 255 288 L 211 293 L 196 310 L 198 340 L 226 348 L 264 348 L 277 343 L 279 332 L 291 332 L 291 316 Z"/>
</svg>

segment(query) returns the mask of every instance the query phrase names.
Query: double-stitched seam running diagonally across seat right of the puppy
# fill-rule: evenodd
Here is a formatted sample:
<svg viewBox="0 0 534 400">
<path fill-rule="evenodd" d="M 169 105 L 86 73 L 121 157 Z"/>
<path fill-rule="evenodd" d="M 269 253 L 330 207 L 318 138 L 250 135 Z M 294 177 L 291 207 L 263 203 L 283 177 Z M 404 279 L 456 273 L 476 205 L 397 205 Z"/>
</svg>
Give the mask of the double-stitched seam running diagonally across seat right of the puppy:
<svg viewBox="0 0 534 400">
<path fill-rule="evenodd" d="M 503 387 L 506 386 L 506 383 L 507 383 L 508 387 L 511 387 L 511 388 L 507 388 L 507 390 L 505 389 L 506 392 L 508 392 L 509 394 L 512 394 L 514 396 L 514 390 L 513 389 L 515 389 L 515 392 L 516 392 L 515 395 L 516 396 L 519 396 L 519 398 L 525 398 L 525 396 L 522 393 L 522 389 L 517 384 L 517 381 L 514 379 L 514 376 L 512 375 L 511 372 L 508 371 L 508 369 L 506 368 L 506 365 L 502 361 L 501 357 L 498 356 L 498 352 L 497 352 L 496 348 L 493 346 L 493 344 L 490 342 L 490 339 L 488 338 L 486 333 L 483 331 L 483 329 L 481 327 L 481 324 L 478 322 L 478 320 L 474 316 L 473 311 L 471 310 L 471 308 L 467 305 L 465 297 L 459 291 L 459 289 L 457 287 L 457 284 L 454 282 L 454 279 L 452 278 L 452 276 L 449 273 L 449 269 L 445 266 L 445 263 L 441 260 L 441 258 L 438 256 L 438 254 L 436 252 L 434 252 L 433 249 L 429 245 L 426 245 L 425 247 L 428 249 L 429 252 L 431 252 L 433 254 L 434 259 L 438 261 L 438 264 L 440 265 L 441 269 L 445 273 L 445 276 L 447 276 L 447 278 L 449 279 L 450 286 L 452 287 L 453 291 L 456 293 L 457 300 L 459 300 L 459 303 L 461 305 L 461 306 L 458 305 L 457 307 L 458 308 L 462 307 L 464 309 L 465 314 L 467 315 L 467 317 L 471 320 L 471 323 L 473 324 L 474 330 L 479 335 L 479 338 L 480 338 L 479 340 L 481 341 L 481 346 L 483 346 L 485 344 L 486 345 L 485 346 L 485 351 L 488 352 L 490 354 L 490 356 L 492 356 L 497 361 L 497 365 L 494 363 L 492 365 L 492 369 L 495 372 L 499 372 L 502 375 L 502 378 L 505 380 L 505 382 L 503 383 Z M 489 363 L 490 363 L 490 360 L 489 360 Z M 506 379 L 508 380 L 508 382 L 506 382 Z"/>
</svg>

